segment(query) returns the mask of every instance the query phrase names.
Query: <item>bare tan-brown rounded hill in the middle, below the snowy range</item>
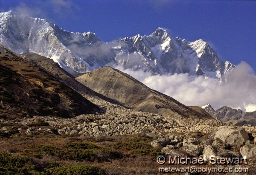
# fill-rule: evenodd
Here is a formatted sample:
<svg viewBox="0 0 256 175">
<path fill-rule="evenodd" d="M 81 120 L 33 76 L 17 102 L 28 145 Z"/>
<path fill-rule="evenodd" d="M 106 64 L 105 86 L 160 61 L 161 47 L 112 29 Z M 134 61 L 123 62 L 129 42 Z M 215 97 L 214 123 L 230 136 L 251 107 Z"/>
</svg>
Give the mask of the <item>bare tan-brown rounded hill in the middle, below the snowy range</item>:
<svg viewBox="0 0 256 175">
<path fill-rule="evenodd" d="M 203 119 L 208 117 L 111 67 L 103 67 L 85 73 L 77 77 L 76 80 L 102 95 L 144 112 Z"/>
</svg>

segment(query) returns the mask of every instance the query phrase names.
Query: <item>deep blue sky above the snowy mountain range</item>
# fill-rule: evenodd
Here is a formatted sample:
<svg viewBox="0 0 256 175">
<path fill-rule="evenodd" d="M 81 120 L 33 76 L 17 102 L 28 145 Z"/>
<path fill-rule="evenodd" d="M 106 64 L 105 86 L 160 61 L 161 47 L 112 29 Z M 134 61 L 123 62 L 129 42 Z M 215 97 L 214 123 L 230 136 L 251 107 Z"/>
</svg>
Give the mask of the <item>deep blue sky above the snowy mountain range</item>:
<svg viewBox="0 0 256 175">
<path fill-rule="evenodd" d="M 256 1 L 0 0 L 0 11 L 9 10 L 67 31 L 92 31 L 105 42 L 163 27 L 173 37 L 201 38 L 222 58 L 256 71 Z"/>
</svg>

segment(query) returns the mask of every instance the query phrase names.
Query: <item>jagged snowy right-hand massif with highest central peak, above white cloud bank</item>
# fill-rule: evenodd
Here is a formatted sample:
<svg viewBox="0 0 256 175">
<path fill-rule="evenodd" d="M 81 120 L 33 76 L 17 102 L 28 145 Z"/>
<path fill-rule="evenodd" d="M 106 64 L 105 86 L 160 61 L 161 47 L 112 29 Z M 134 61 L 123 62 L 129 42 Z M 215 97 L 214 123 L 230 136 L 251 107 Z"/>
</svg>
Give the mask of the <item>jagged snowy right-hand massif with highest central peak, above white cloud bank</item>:
<svg viewBox="0 0 256 175">
<path fill-rule="evenodd" d="M 234 68 L 230 62 L 220 59 L 207 42 L 173 38 L 163 28 L 157 28 L 149 36 L 138 34 L 121 41 L 127 43 L 128 48 L 121 49 L 116 60 L 125 68 L 146 67 L 160 74 L 189 73 L 222 81 L 222 76 Z"/>
</svg>

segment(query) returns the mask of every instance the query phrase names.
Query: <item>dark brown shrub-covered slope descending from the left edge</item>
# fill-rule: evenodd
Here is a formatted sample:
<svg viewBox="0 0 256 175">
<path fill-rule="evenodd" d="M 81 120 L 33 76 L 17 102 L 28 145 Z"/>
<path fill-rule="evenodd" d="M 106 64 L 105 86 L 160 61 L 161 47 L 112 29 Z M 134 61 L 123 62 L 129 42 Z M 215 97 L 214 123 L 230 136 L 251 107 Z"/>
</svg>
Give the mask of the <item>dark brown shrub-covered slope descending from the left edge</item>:
<svg viewBox="0 0 256 175">
<path fill-rule="evenodd" d="M 29 60 L 0 46 L 0 115 L 74 117 L 100 112 L 99 107 Z"/>
</svg>

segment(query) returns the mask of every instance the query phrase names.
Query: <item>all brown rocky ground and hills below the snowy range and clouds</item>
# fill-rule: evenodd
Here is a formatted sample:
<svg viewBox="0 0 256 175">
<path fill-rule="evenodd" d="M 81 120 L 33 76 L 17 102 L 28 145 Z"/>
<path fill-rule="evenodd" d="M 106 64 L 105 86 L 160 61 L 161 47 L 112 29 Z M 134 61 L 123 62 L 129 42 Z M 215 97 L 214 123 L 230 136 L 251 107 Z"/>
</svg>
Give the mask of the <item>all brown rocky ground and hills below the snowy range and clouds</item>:
<svg viewBox="0 0 256 175">
<path fill-rule="evenodd" d="M 217 168 L 212 155 L 247 158 L 225 167 L 256 171 L 250 124 L 220 121 L 110 67 L 79 76 L 81 84 L 43 56 L 0 46 L 0 60 L 0 174 L 162 174 L 159 155 L 205 157 Z"/>
</svg>

